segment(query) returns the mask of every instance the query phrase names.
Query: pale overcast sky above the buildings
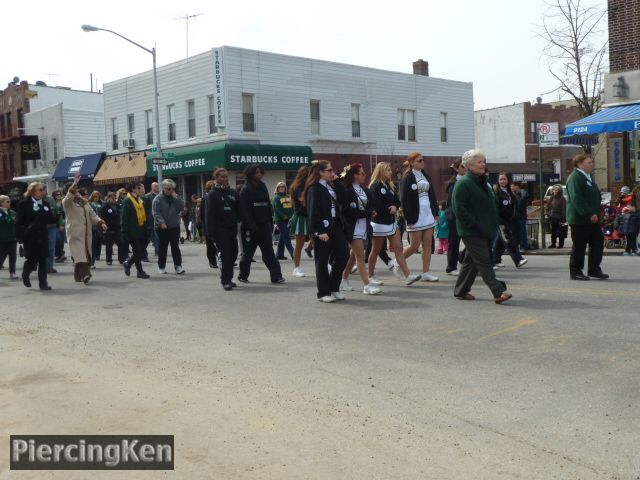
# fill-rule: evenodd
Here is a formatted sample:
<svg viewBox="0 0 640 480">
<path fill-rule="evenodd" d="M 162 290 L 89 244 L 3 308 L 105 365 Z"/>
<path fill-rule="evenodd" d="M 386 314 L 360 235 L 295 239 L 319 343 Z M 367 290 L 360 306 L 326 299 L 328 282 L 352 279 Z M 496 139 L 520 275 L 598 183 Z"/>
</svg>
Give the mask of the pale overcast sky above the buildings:
<svg viewBox="0 0 640 480">
<path fill-rule="evenodd" d="M 157 46 L 158 64 L 232 45 L 398 72 L 429 62 L 430 75 L 473 82 L 475 109 L 510 105 L 553 90 L 535 24 L 543 0 L 33 0 L 4 5 L 0 89 L 14 76 L 90 90 L 151 68 L 151 55 L 83 23 Z M 604 0 L 601 0 L 604 5 Z M 216 5 L 219 5 L 217 7 Z M 13 10 L 13 12 L 11 12 Z M 543 96 L 545 101 L 557 94 Z"/>
</svg>

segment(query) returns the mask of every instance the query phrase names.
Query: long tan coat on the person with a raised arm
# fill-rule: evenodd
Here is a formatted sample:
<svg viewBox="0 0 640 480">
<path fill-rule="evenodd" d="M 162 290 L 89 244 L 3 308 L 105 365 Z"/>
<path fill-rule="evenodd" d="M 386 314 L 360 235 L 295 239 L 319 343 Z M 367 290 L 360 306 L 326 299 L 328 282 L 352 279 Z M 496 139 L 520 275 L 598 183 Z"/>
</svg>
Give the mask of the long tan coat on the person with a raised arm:
<svg viewBox="0 0 640 480">
<path fill-rule="evenodd" d="M 76 189 L 70 188 L 62 200 L 62 207 L 66 215 L 67 239 L 73 261 L 85 263 L 91 260 L 92 226 L 104 223 L 96 215 L 89 203 L 83 201 L 82 205 L 74 201 Z"/>
</svg>

